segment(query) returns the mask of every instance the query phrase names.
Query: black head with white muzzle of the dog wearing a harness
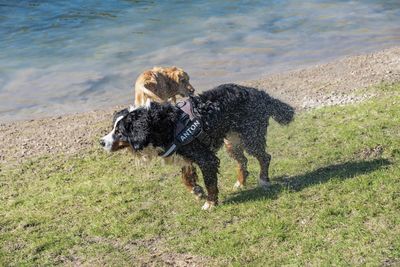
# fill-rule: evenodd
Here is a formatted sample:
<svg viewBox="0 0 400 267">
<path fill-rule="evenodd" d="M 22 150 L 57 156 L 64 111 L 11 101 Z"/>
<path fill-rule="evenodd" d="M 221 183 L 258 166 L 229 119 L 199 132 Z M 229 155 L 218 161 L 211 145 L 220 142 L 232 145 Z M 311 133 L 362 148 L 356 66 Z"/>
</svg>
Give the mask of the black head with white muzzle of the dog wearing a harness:
<svg viewBox="0 0 400 267">
<path fill-rule="evenodd" d="M 169 105 L 147 103 L 144 107 L 123 109 L 113 118 L 113 129 L 100 139 L 100 145 L 109 152 L 130 146 L 134 152 L 140 152 L 150 143 L 157 143 L 165 138 L 170 131 Z M 164 126 L 167 126 L 165 129 Z"/>
</svg>

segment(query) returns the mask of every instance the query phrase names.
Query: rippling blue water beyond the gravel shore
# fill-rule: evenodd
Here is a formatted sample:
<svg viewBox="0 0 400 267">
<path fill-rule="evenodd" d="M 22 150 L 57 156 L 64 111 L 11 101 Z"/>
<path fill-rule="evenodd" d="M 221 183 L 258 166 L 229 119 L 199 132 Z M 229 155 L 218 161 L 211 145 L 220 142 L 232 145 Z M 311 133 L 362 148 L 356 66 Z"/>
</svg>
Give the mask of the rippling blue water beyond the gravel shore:
<svg viewBox="0 0 400 267">
<path fill-rule="evenodd" d="M 203 90 L 399 43 L 398 0 L 0 0 L 0 121 L 132 102 L 156 65 Z"/>
</svg>

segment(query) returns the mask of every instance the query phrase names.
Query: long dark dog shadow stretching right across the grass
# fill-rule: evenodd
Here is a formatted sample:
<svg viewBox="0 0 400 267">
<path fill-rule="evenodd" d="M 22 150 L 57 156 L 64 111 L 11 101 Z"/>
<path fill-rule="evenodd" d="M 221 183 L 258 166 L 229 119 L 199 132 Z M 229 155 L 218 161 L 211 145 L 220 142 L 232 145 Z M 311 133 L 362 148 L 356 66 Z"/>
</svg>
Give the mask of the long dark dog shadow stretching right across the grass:
<svg viewBox="0 0 400 267">
<path fill-rule="evenodd" d="M 370 161 L 354 161 L 329 165 L 317 170 L 291 177 L 277 177 L 272 179 L 272 186 L 264 190 L 260 187 L 242 190 L 225 199 L 224 203 L 241 203 L 265 198 L 277 198 L 282 191 L 298 192 L 302 189 L 328 182 L 331 179 L 346 180 L 357 175 L 367 174 L 390 165 L 386 159 Z"/>
</svg>

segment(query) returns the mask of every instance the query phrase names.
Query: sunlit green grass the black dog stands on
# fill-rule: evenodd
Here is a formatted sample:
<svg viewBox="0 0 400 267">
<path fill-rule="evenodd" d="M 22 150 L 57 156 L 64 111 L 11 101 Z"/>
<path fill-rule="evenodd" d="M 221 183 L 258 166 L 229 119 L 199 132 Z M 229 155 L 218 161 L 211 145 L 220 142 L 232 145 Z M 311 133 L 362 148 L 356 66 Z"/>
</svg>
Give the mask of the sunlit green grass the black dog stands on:
<svg viewBox="0 0 400 267">
<path fill-rule="evenodd" d="M 220 151 L 222 205 L 200 210 L 179 168 L 127 152 L 0 166 L 2 265 L 398 265 L 400 85 L 380 97 L 272 123 L 268 191 L 235 191 Z M 181 262 L 182 263 L 182 262 Z"/>
</svg>

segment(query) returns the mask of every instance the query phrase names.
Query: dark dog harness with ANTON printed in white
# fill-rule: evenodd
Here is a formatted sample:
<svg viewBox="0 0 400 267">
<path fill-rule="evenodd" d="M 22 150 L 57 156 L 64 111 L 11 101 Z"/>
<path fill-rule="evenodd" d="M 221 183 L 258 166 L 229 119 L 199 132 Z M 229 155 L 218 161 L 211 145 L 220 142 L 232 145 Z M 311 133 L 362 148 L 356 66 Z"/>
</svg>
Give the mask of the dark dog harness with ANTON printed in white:
<svg viewBox="0 0 400 267">
<path fill-rule="evenodd" d="M 202 143 L 209 140 L 208 135 L 203 131 L 203 123 L 198 118 L 199 113 L 193 107 L 190 98 L 176 103 L 175 106 L 181 114 L 175 125 L 175 138 L 161 155 L 163 158 L 171 156 L 179 147 L 187 145 L 195 139 Z"/>
</svg>

